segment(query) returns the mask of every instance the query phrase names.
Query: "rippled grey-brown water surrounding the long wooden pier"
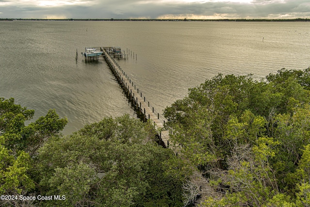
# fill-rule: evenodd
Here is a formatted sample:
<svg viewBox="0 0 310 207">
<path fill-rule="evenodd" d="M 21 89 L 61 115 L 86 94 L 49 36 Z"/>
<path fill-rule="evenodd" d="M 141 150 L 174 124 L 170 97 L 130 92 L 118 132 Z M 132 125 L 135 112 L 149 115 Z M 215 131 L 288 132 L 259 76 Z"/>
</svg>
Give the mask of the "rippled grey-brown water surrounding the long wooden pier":
<svg viewBox="0 0 310 207">
<path fill-rule="evenodd" d="M 68 134 L 106 116 L 136 117 L 107 64 L 85 63 L 85 47 L 130 52 L 119 64 L 160 112 L 218 73 L 260 79 L 309 67 L 309 24 L 1 21 L 0 97 L 34 109 L 34 119 L 56 109 Z"/>
</svg>

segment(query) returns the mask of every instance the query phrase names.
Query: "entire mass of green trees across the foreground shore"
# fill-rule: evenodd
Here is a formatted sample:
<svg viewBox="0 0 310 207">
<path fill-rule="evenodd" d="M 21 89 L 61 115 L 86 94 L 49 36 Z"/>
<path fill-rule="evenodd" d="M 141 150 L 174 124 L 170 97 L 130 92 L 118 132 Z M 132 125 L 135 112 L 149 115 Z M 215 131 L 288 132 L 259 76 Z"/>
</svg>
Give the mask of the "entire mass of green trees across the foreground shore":
<svg viewBox="0 0 310 207">
<path fill-rule="evenodd" d="M 164 114 L 177 155 L 151 122 L 106 117 L 63 136 L 55 110 L 31 121 L 0 98 L 1 194 L 63 198 L 1 205 L 310 206 L 310 68 L 218 74 Z"/>
</svg>

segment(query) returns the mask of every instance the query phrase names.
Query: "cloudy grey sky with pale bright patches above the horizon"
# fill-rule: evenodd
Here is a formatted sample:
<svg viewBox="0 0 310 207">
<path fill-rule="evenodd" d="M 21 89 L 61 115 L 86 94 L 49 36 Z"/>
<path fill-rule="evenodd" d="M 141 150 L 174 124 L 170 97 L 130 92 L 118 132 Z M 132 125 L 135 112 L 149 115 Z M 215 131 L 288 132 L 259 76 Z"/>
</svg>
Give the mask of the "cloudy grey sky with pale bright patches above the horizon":
<svg viewBox="0 0 310 207">
<path fill-rule="evenodd" d="M 0 18 L 294 19 L 310 0 L 0 0 Z"/>
</svg>

